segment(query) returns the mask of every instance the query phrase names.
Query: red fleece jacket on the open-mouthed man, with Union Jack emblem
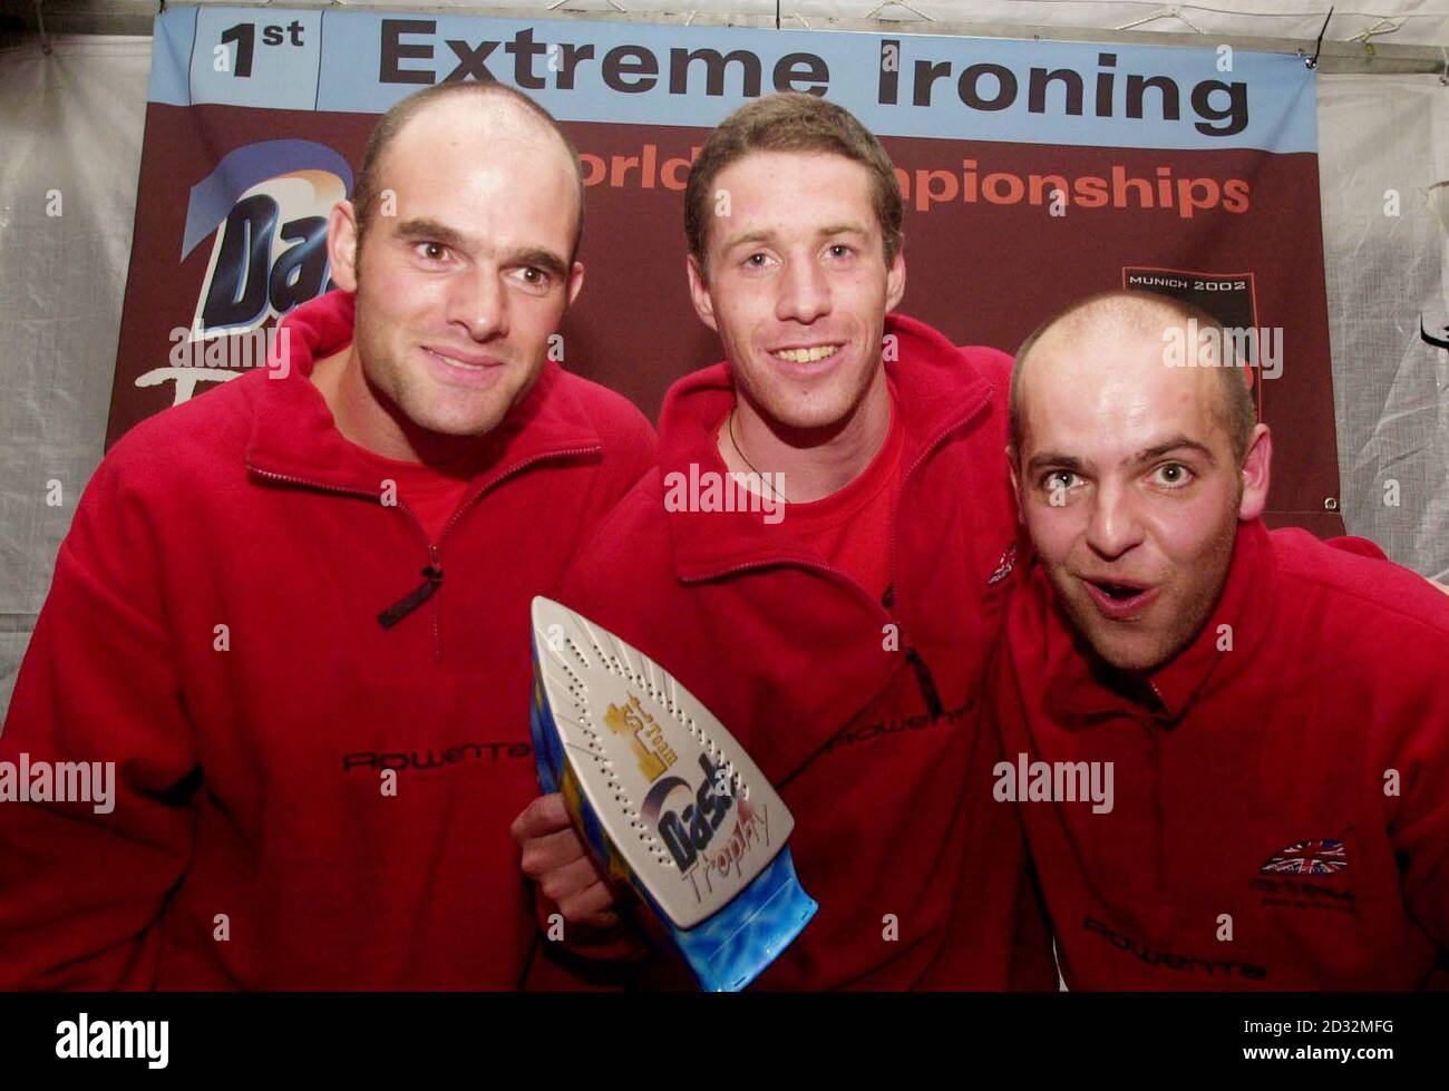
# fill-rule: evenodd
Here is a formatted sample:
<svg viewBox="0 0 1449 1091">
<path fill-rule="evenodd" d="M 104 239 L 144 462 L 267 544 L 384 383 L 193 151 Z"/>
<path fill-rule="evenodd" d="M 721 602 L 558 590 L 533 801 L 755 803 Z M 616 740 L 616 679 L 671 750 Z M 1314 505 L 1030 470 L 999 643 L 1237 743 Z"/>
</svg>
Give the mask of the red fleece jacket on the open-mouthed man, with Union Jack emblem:
<svg viewBox="0 0 1449 1091">
<path fill-rule="evenodd" d="M 1361 548 L 1239 527 L 1201 635 L 1136 697 L 1094 675 L 1039 569 L 1013 594 L 1007 761 L 1113 768 L 1110 811 L 1022 804 L 1069 987 L 1437 984 L 1449 598 Z"/>
</svg>

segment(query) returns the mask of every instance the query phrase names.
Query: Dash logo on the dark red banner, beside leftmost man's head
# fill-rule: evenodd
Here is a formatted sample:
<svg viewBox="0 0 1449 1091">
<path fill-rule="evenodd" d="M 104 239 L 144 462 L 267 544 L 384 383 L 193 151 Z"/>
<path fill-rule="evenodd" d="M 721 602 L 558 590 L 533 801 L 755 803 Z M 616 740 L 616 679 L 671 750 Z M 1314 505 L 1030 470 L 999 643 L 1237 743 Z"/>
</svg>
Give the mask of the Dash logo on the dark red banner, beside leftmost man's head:
<svg viewBox="0 0 1449 1091">
<path fill-rule="evenodd" d="M 181 404 L 199 383 L 248 368 L 284 378 L 288 332 L 275 323 L 327 290 L 327 214 L 351 190 L 348 161 L 314 141 L 262 141 L 223 156 L 187 203 L 181 261 L 210 239 L 191 325 L 171 330 L 168 367 L 136 385 L 174 383 Z"/>
</svg>

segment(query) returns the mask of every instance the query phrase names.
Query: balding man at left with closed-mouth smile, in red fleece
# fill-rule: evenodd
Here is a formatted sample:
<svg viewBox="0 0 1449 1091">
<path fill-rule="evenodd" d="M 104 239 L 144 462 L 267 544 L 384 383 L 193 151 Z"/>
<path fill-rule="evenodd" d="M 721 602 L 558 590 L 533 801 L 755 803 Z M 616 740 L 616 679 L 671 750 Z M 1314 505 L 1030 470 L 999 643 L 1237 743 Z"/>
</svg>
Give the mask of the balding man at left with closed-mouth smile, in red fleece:
<svg viewBox="0 0 1449 1091">
<path fill-rule="evenodd" d="M 0 987 L 520 984 L 529 601 L 653 461 L 549 359 L 581 217 L 522 94 L 404 100 L 287 367 L 106 456 L 0 759 L 114 761 L 117 798 L 0 803 Z"/>
</svg>

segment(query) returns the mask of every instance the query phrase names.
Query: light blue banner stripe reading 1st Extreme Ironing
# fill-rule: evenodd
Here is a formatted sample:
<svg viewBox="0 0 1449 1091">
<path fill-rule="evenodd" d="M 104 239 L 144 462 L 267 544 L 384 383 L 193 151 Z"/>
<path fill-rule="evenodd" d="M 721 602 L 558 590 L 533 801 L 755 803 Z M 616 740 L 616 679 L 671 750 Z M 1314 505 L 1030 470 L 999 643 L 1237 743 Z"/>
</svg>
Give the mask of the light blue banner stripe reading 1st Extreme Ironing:
<svg viewBox="0 0 1449 1091">
<path fill-rule="evenodd" d="M 185 74 L 172 71 L 184 51 L 158 48 L 152 101 L 383 113 L 420 87 L 494 78 L 561 120 L 713 126 L 793 88 L 823 90 L 881 136 L 1317 151 L 1303 58 L 1227 46 L 246 7 L 158 17 L 158 45 L 188 35 Z"/>
</svg>

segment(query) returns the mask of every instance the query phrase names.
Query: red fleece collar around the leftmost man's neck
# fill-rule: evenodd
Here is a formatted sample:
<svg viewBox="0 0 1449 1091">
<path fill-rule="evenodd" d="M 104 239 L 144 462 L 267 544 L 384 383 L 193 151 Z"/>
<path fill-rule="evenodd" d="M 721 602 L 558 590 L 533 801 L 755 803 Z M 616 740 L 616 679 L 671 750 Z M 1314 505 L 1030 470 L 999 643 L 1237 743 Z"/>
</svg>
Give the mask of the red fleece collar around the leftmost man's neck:
<svg viewBox="0 0 1449 1091">
<path fill-rule="evenodd" d="M 285 319 L 285 377 L 268 369 L 261 381 L 246 465 L 258 474 L 314 488 L 378 491 L 377 471 L 362 451 L 346 440 L 322 394 L 312 385 L 312 365 L 351 343 L 355 319 L 352 293 L 329 291 L 301 304 Z M 603 449 L 578 394 L 554 361 L 532 390 L 509 410 L 503 423 L 484 440 L 494 455 L 474 478 L 475 485 L 497 481 L 542 458 L 594 453 Z M 472 490 L 469 490 L 471 493 Z"/>
</svg>

